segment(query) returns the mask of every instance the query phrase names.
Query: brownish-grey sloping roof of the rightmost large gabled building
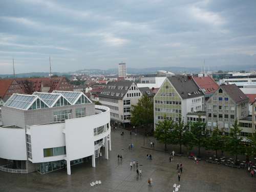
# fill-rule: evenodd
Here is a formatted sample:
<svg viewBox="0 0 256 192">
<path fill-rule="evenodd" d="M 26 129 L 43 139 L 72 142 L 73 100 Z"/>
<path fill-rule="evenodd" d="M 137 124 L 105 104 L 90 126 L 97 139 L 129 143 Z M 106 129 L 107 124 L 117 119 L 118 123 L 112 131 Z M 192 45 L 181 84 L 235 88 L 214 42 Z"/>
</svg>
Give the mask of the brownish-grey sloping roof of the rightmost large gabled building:
<svg viewBox="0 0 256 192">
<path fill-rule="evenodd" d="M 223 89 L 234 102 L 242 102 L 249 98 L 236 86 L 236 84 L 222 84 L 219 89 Z"/>
</svg>

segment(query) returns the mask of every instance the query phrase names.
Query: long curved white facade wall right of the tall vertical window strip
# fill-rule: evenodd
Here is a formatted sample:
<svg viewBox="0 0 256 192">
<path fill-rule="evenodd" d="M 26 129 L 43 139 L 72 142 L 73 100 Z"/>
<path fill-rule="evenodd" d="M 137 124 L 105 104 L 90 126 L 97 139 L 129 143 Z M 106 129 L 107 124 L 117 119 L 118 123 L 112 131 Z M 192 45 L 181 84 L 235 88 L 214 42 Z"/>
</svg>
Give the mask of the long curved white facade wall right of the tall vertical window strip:
<svg viewBox="0 0 256 192">
<path fill-rule="evenodd" d="M 31 135 L 32 162 L 57 161 L 66 158 L 75 160 L 93 155 L 94 141 L 110 134 L 109 128 L 106 132 L 94 136 L 94 128 L 110 123 L 110 109 L 101 105 L 96 105 L 95 108 L 103 109 L 105 112 L 67 119 L 65 123 L 30 126 L 27 132 Z M 44 148 L 65 145 L 66 155 L 44 157 Z"/>
</svg>

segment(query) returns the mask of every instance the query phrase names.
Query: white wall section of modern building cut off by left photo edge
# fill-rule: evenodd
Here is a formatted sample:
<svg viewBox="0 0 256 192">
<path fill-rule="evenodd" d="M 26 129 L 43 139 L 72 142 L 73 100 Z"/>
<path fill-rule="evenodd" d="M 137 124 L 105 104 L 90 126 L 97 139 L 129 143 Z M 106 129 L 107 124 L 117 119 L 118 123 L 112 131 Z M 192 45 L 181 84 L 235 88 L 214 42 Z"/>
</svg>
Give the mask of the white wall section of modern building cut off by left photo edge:
<svg viewBox="0 0 256 192">
<path fill-rule="evenodd" d="M 27 160 L 25 129 L 0 127 L 0 158 Z"/>
</svg>

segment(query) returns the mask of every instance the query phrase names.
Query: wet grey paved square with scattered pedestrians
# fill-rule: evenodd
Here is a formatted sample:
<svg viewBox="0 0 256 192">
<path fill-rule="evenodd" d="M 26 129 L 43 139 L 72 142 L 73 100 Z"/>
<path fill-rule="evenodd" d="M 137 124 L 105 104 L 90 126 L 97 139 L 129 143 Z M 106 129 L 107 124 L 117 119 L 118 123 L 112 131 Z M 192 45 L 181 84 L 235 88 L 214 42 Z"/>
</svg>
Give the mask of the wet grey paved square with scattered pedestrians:
<svg viewBox="0 0 256 192">
<path fill-rule="evenodd" d="M 96 167 L 91 162 L 72 166 L 71 176 L 65 169 L 45 175 L 39 173 L 11 174 L 0 172 L 0 191 L 173 191 L 173 184 L 179 183 L 179 191 L 256 191 L 256 178 L 252 178 L 245 169 L 210 164 L 205 161 L 195 164 L 187 157 L 175 156 L 169 163 L 168 154 L 142 148 L 143 136 L 130 135 L 124 131 L 111 134 L 112 151 L 109 160 L 104 154 L 96 160 Z M 149 138 L 146 146 L 149 147 Z M 135 148 L 128 149 L 134 143 Z M 157 147 L 157 144 L 156 146 Z M 147 160 L 151 153 L 153 160 Z M 123 161 L 117 160 L 117 154 Z M 136 168 L 130 168 L 132 160 L 139 161 L 142 176 L 136 176 Z M 177 163 L 183 164 L 183 173 L 178 182 Z M 147 179 L 152 178 L 153 186 L 148 187 Z M 102 184 L 91 187 L 90 182 L 101 180 Z"/>
</svg>

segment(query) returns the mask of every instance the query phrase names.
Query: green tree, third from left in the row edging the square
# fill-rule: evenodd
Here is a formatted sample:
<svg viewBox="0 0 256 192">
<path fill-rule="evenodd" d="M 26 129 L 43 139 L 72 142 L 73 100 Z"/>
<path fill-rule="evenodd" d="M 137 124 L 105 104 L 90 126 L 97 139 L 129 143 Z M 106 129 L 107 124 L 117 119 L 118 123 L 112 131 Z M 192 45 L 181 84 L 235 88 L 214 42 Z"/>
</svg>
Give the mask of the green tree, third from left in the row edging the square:
<svg viewBox="0 0 256 192">
<path fill-rule="evenodd" d="M 190 125 L 190 131 L 193 134 L 193 143 L 198 147 L 198 156 L 200 157 L 200 148 L 205 146 L 206 139 L 209 137 L 208 130 L 205 129 L 206 124 L 202 122 L 202 119 L 199 118 L 199 121 L 194 122 Z"/>
</svg>

